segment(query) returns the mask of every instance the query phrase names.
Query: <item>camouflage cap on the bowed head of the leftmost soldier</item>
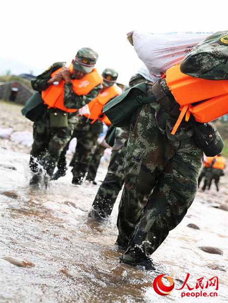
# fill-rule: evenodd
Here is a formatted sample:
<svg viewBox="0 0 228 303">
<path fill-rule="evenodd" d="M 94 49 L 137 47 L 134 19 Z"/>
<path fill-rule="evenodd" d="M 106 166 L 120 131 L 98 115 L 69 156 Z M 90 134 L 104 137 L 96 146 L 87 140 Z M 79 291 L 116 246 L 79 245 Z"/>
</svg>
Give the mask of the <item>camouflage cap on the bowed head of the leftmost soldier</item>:
<svg viewBox="0 0 228 303">
<path fill-rule="evenodd" d="M 73 67 L 75 70 L 90 73 L 94 69 L 96 62 L 98 60 L 98 53 L 92 48 L 83 47 L 77 52 Z"/>
</svg>

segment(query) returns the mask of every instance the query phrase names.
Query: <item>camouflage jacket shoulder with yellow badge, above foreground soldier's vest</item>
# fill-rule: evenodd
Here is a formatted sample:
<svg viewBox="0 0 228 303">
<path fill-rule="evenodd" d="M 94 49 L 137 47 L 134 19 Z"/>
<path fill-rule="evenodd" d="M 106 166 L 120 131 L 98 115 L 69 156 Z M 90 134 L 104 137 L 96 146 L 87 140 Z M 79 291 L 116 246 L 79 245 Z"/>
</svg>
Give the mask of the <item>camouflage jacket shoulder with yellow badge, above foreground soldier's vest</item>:
<svg viewBox="0 0 228 303">
<path fill-rule="evenodd" d="M 199 43 L 180 64 L 180 70 L 197 78 L 228 79 L 228 31 L 216 32 Z"/>
</svg>

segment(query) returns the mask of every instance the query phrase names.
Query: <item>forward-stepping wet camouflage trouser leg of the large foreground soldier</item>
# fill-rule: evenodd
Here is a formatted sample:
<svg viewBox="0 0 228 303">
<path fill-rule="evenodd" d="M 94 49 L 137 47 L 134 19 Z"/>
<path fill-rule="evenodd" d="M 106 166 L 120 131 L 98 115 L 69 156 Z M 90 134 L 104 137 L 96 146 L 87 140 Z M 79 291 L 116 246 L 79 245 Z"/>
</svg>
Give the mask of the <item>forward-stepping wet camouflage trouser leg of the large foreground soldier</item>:
<svg viewBox="0 0 228 303">
<path fill-rule="evenodd" d="M 198 185 L 196 167 L 185 162 L 186 156 L 187 153 L 175 154 L 167 163 L 143 209 L 141 220 L 130 239 L 128 251 L 134 252 L 138 247 L 136 252 L 149 257 L 165 240 L 169 231 L 185 217 Z M 200 166 L 199 161 L 199 169 Z"/>
</svg>

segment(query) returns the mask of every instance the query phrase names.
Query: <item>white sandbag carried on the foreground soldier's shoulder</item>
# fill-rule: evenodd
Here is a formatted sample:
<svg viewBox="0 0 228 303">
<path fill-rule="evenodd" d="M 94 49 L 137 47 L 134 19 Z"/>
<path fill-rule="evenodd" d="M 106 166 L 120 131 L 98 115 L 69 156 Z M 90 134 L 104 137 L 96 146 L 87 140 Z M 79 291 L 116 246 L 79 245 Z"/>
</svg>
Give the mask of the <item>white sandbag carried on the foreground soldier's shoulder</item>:
<svg viewBox="0 0 228 303">
<path fill-rule="evenodd" d="M 212 32 L 142 33 L 133 31 L 138 57 L 156 82 L 165 71 L 180 63 L 192 49 Z"/>
</svg>

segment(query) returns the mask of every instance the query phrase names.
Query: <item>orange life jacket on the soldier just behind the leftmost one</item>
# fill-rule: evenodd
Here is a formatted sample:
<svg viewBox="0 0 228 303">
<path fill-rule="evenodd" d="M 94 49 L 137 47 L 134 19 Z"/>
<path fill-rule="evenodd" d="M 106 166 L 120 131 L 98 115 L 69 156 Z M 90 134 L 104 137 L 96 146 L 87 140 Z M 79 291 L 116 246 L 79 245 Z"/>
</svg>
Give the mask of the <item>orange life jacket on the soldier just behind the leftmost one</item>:
<svg viewBox="0 0 228 303">
<path fill-rule="evenodd" d="M 104 116 L 102 118 L 100 118 L 99 116 L 102 114 L 102 110 L 103 107 L 106 105 L 106 103 L 109 102 L 109 100 L 111 100 L 112 98 L 118 96 L 120 94 L 120 89 L 119 87 L 114 84 L 104 90 L 102 90 L 96 98 L 94 98 L 92 101 L 90 101 L 88 103 L 88 108 L 89 108 L 89 112 L 90 114 L 84 114 L 83 116 L 88 118 L 88 119 L 92 119 L 93 121 L 91 122 L 92 124 L 97 121 L 100 120 L 102 122 L 107 122 L 107 125 L 111 125 L 110 120 L 108 119 L 108 117 L 104 118 Z M 109 124 L 110 123 L 110 124 Z"/>
</svg>

